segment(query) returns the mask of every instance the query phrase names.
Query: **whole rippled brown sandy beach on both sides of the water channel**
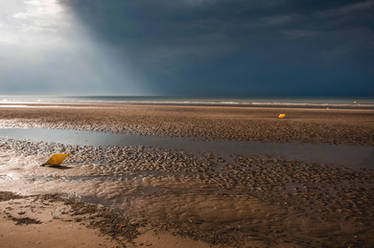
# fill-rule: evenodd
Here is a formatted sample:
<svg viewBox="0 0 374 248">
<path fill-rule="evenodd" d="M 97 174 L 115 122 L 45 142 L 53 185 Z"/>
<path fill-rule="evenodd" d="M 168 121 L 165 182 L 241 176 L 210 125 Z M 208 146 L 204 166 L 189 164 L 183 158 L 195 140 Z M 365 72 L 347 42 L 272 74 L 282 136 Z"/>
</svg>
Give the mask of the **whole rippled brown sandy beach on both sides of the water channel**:
<svg viewBox="0 0 374 248">
<path fill-rule="evenodd" d="M 280 113 L 287 117 L 278 119 Z M 1 136 L 0 243 L 9 247 L 374 245 L 372 109 L 0 104 L 0 128 L 234 144 L 223 154 L 157 142 L 63 144 Z M 357 154 L 368 157 L 351 166 L 309 159 L 319 154 L 244 153 L 236 149 L 239 142 L 362 148 Z M 63 165 L 40 167 L 61 152 L 70 154 Z M 82 243 L 48 230 L 74 233 Z"/>
</svg>

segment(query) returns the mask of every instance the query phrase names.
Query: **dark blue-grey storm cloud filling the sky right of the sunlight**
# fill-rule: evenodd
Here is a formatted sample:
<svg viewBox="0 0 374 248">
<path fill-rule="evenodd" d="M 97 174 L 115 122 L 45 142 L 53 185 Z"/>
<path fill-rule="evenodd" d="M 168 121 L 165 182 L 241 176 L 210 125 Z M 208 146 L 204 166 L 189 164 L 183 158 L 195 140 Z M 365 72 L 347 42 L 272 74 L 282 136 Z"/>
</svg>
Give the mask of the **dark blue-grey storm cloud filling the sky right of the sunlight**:
<svg viewBox="0 0 374 248">
<path fill-rule="evenodd" d="M 60 2 L 157 94 L 374 95 L 371 0 Z"/>
</svg>

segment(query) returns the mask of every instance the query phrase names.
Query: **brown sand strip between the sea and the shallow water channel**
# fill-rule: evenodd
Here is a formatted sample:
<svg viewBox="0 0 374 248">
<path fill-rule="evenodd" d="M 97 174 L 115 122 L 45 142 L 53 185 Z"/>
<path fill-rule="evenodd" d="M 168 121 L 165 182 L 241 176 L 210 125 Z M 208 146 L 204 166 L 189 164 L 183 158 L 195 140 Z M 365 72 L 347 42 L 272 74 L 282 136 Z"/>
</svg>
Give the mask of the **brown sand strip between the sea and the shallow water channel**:
<svg viewBox="0 0 374 248">
<path fill-rule="evenodd" d="M 123 104 L 15 106 L 0 108 L 0 127 L 47 127 L 277 143 L 374 145 L 374 110 Z M 286 113 L 287 118 L 278 120 L 279 113 Z"/>
</svg>

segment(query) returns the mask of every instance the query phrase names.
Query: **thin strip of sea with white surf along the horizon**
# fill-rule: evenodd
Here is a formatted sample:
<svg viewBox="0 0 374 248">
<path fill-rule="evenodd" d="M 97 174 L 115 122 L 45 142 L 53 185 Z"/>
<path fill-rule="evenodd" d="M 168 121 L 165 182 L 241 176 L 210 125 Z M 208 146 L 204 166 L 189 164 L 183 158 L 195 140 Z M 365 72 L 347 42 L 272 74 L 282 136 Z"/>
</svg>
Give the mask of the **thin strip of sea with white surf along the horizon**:
<svg viewBox="0 0 374 248">
<path fill-rule="evenodd" d="M 374 98 L 355 97 L 169 97 L 169 96 L 0 96 L 0 105 L 12 104 L 177 104 L 253 107 L 311 107 L 374 109 Z"/>
</svg>

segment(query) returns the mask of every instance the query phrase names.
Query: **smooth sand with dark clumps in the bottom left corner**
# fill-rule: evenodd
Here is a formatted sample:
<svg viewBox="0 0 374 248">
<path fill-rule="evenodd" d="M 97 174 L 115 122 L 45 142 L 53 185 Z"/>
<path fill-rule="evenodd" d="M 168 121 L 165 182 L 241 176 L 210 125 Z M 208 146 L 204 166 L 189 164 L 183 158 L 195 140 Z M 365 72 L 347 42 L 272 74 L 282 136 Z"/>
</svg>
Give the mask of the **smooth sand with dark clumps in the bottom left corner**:
<svg viewBox="0 0 374 248">
<path fill-rule="evenodd" d="M 167 232 L 140 234 L 136 226 L 110 209 L 58 195 L 20 196 L 0 191 L 0 210 L 1 247 L 214 247 Z"/>
</svg>

